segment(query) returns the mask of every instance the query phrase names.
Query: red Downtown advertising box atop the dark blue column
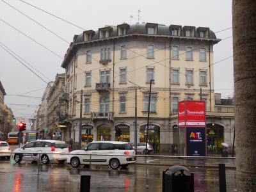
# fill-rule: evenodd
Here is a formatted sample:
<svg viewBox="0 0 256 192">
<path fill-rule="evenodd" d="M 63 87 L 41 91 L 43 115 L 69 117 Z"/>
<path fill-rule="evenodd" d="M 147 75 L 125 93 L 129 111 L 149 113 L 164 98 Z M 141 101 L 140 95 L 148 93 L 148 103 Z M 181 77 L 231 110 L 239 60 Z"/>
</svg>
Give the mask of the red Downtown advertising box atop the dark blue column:
<svg viewBox="0 0 256 192">
<path fill-rule="evenodd" d="M 205 127 L 205 102 L 185 100 L 178 106 L 179 127 Z"/>
</svg>

